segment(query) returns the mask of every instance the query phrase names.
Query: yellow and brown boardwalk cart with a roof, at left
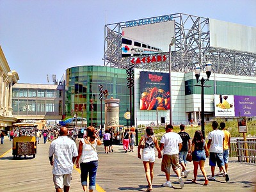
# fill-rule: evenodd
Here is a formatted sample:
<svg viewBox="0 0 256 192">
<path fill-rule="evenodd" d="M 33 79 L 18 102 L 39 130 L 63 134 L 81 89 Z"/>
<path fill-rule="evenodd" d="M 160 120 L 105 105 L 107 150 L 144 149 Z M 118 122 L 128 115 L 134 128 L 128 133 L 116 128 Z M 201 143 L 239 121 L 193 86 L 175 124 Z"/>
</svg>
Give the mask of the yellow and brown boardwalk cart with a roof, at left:
<svg viewBox="0 0 256 192">
<path fill-rule="evenodd" d="M 37 124 L 13 124 L 13 159 L 21 156 L 36 156 L 36 129 Z"/>
</svg>

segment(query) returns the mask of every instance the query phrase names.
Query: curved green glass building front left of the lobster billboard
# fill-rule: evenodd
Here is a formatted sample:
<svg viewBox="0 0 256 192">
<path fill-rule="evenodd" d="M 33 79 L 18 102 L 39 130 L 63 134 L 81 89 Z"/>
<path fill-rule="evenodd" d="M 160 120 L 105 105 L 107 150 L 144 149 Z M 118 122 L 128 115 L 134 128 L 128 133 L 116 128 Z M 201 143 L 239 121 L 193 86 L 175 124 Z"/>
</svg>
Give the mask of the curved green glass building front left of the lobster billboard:
<svg viewBox="0 0 256 192">
<path fill-rule="evenodd" d="M 105 120 L 105 103 L 102 100 L 102 114 L 100 108 L 99 84 L 103 91 L 108 91 L 107 98 L 120 99 L 120 118 L 122 125 L 127 125 L 124 113 L 129 109 L 129 88 L 127 87 L 126 70 L 122 68 L 104 66 L 79 66 L 66 70 L 65 117 L 83 117 L 88 125 L 100 127 Z M 93 110 L 91 107 L 91 102 Z"/>
</svg>

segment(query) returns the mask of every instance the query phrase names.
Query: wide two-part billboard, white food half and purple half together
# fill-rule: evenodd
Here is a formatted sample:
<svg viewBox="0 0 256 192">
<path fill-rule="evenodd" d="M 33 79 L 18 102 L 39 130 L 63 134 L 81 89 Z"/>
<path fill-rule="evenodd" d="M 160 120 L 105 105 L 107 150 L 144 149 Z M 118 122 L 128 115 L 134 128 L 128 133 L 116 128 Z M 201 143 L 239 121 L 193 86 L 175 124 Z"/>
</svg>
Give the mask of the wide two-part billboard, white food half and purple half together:
<svg viewBox="0 0 256 192">
<path fill-rule="evenodd" d="M 256 97 L 214 95 L 215 116 L 256 116 Z"/>
</svg>

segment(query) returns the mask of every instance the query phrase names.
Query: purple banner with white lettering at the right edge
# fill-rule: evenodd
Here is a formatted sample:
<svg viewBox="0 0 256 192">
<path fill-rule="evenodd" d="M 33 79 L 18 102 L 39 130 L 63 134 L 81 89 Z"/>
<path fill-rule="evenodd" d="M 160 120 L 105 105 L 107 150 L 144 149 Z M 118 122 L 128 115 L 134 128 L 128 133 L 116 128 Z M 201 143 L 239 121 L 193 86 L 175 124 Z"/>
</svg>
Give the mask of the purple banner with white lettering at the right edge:
<svg viewBox="0 0 256 192">
<path fill-rule="evenodd" d="M 256 116 L 256 97 L 234 96 L 235 116 Z"/>
</svg>

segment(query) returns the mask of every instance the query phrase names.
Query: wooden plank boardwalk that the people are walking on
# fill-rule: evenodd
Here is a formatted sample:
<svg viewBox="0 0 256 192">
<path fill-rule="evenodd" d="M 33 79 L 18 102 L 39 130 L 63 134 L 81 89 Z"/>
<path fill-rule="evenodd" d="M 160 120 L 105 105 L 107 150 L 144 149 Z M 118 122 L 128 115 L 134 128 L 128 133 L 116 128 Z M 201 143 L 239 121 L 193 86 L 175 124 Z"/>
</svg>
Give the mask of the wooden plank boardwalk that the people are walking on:
<svg viewBox="0 0 256 192">
<path fill-rule="evenodd" d="M 5 140 L 0 146 L 1 185 L 0 191 L 55 191 L 52 183 L 51 165 L 48 159 L 49 143 L 39 144 L 35 159 L 12 159 L 11 143 Z M 41 141 L 41 143 L 43 143 Z M 136 148 L 136 147 L 135 147 Z M 98 192 L 113 191 L 146 191 L 147 181 L 141 160 L 136 157 L 137 152 L 124 153 L 122 146 L 114 145 L 114 152 L 104 154 L 104 147 L 98 147 L 99 170 L 97 172 Z M 8 151 L 9 150 L 9 151 Z M 4 152 L 8 151 L 4 154 Z M 3 156 L 4 154 L 4 156 Z M 205 163 L 207 175 L 211 173 L 208 166 L 209 159 Z M 230 181 L 225 182 L 223 177 L 216 177 L 216 181 L 210 181 L 208 186 L 203 186 L 204 178 L 198 171 L 198 183 L 192 184 L 193 163 L 188 164 L 191 170 L 188 178 L 184 179 L 185 186 L 180 188 L 177 177 L 171 175 L 173 188 L 161 186 L 165 182 L 164 173 L 160 170 L 161 159 L 157 159 L 154 166 L 154 191 L 256 191 L 256 165 L 237 163 L 237 158 L 231 158 L 228 174 Z M 79 170 L 74 169 L 70 192 L 83 191 L 80 183 Z"/>
</svg>

